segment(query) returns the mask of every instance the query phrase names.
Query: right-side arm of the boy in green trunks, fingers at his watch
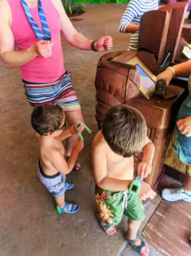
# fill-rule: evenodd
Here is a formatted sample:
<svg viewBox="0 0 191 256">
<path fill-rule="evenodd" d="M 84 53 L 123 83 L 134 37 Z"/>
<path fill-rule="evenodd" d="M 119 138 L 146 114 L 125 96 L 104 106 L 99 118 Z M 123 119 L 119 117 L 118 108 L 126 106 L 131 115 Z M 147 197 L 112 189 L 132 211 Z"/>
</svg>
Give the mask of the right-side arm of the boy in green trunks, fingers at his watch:
<svg viewBox="0 0 191 256">
<path fill-rule="evenodd" d="M 154 143 L 147 137 L 146 145 L 143 148 L 143 159 L 138 164 L 138 177 L 141 179 L 147 178 L 151 173 L 152 162 L 154 159 Z"/>
</svg>

